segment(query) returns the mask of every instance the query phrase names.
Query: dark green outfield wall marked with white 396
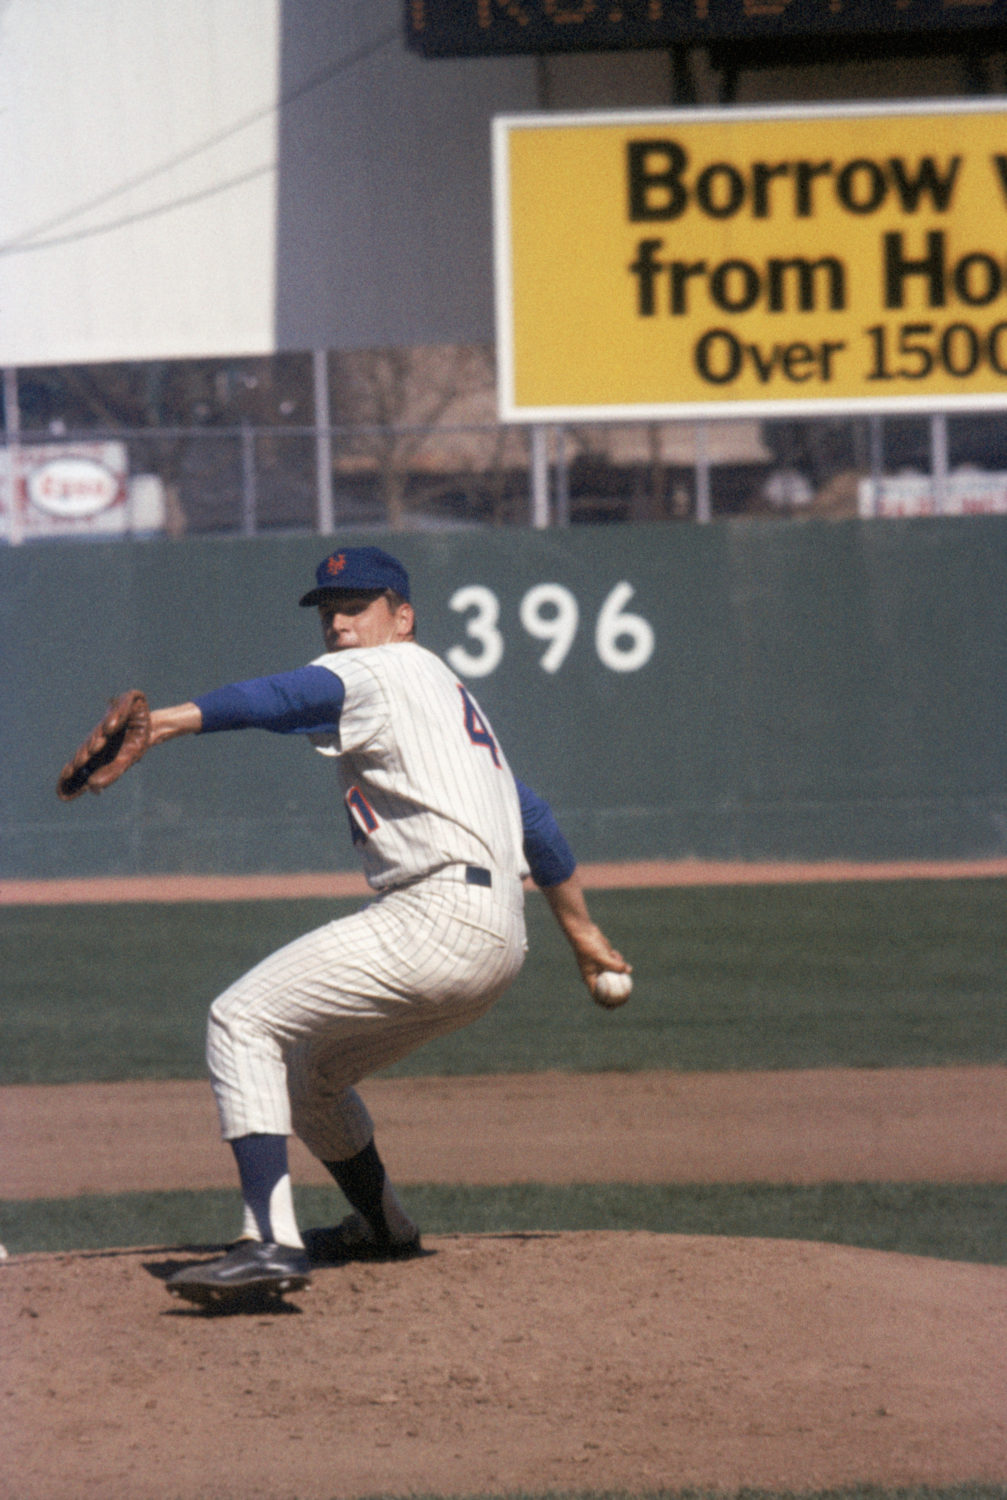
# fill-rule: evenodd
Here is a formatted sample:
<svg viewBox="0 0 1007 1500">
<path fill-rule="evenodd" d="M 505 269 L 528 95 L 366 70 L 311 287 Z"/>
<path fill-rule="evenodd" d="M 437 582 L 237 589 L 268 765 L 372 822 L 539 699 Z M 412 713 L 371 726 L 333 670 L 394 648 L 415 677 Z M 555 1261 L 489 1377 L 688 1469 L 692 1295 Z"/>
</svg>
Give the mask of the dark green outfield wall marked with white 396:
<svg viewBox="0 0 1007 1500">
<path fill-rule="evenodd" d="M 383 542 L 341 534 L 341 544 Z M 329 542 L 0 550 L 0 874 L 353 868 L 299 736 L 177 741 L 111 792 L 56 776 L 105 700 L 318 654 Z M 1007 518 L 404 534 L 449 657 L 582 860 L 1007 852 Z"/>
</svg>

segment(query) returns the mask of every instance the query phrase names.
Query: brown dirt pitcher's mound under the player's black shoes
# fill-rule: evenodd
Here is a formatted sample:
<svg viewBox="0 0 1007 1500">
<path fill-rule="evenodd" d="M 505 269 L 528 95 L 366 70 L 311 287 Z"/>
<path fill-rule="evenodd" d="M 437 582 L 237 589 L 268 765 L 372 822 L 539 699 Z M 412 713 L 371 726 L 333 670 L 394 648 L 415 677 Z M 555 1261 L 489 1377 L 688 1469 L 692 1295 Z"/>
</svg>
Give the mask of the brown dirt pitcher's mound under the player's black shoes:
<svg viewBox="0 0 1007 1500">
<path fill-rule="evenodd" d="M 330 1500 L 1007 1480 L 1007 1270 L 641 1233 L 431 1240 L 279 1311 L 183 1252 L 0 1266 L 3 1491 Z"/>
</svg>

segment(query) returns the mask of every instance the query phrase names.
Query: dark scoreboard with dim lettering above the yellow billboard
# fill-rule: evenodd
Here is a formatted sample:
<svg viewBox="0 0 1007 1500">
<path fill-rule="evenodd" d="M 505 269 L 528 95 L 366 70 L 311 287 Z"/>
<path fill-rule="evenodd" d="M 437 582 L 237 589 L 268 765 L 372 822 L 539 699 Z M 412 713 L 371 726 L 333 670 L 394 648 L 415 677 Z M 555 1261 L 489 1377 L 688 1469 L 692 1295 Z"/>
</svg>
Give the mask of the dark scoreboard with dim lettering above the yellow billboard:
<svg viewBox="0 0 1007 1500">
<path fill-rule="evenodd" d="M 1007 0 L 405 0 L 405 36 L 425 57 L 777 39 L 959 51 L 1007 45 Z"/>
</svg>

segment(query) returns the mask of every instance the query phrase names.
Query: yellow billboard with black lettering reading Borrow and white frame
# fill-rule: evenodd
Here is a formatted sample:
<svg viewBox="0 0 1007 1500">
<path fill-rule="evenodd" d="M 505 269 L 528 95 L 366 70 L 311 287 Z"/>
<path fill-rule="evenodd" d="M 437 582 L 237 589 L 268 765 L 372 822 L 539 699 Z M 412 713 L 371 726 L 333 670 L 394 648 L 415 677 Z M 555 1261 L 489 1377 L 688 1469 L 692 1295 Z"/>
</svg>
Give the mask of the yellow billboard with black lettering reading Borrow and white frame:
<svg viewBox="0 0 1007 1500">
<path fill-rule="evenodd" d="M 1007 99 L 494 120 L 503 420 L 1007 405 Z"/>
</svg>

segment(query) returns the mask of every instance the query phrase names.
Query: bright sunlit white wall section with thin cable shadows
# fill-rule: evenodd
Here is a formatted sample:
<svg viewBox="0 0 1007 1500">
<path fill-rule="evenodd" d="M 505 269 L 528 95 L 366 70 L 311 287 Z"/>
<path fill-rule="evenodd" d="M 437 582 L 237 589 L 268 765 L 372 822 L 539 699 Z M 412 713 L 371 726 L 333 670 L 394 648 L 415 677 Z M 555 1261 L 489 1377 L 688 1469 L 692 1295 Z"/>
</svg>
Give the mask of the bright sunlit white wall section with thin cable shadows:
<svg viewBox="0 0 1007 1500">
<path fill-rule="evenodd" d="M 276 0 L 8 0 L 0 362 L 267 351 Z"/>
</svg>

